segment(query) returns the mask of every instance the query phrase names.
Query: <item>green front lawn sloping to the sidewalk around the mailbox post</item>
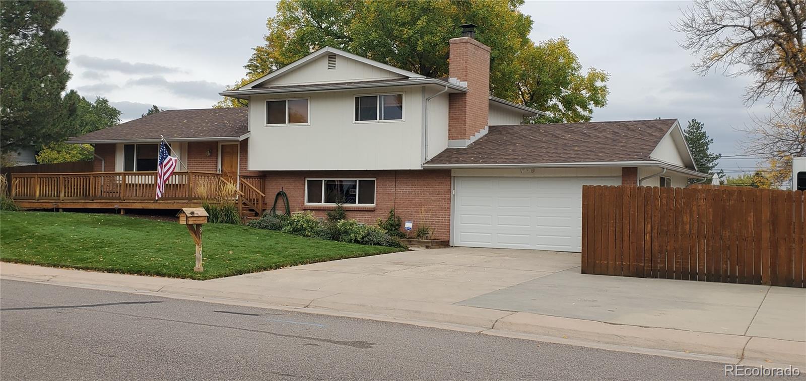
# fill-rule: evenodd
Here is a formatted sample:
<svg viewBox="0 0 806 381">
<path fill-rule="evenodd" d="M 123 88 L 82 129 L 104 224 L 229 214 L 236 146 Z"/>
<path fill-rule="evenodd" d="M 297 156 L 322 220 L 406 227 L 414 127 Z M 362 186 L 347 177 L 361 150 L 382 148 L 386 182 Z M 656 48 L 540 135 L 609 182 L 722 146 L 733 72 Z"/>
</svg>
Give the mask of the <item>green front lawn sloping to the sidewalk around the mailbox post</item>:
<svg viewBox="0 0 806 381">
<path fill-rule="evenodd" d="M 206 224 L 202 245 L 204 272 L 198 273 L 193 238 L 177 222 L 115 214 L 0 213 L 0 259 L 42 266 L 209 280 L 401 251 L 225 224 Z"/>
</svg>

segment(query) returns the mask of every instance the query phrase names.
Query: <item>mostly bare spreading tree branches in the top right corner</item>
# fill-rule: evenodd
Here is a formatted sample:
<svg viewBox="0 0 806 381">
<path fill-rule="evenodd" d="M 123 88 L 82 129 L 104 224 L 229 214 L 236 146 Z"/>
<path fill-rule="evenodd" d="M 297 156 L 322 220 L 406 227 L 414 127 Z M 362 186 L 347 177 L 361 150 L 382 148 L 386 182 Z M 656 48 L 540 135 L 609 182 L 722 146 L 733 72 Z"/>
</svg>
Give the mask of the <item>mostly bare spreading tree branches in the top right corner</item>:
<svg viewBox="0 0 806 381">
<path fill-rule="evenodd" d="M 745 101 L 799 98 L 806 106 L 806 2 L 802 0 L 696 0 L 675 26 L 683 48 L 699 53 L 693 67 L 705 74 L 755 78 Z M 733 68 L 733 72 L 728 72 Z"/>
</svg>

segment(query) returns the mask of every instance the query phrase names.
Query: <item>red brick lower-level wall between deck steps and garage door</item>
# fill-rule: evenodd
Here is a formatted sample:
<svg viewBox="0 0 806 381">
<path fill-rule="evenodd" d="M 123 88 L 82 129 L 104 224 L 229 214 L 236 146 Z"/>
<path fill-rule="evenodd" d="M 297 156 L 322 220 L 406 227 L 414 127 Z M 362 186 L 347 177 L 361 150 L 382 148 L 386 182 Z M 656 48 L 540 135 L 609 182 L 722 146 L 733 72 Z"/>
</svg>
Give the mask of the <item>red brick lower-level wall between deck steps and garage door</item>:
<svg viewBox="0 0 806 381">
<path fill-rule="evenodd" d="M 264 172 L 268 208 L 280 189 L 289 196 L 292 212 L 311 210 L 325 217 L 331 206 L 305 205 L 305 178 L 375 178 L 375 207 L 346 205 L 347 217 L 359 222 L 375 224 L 385 218 L 389 209 L 403 221 L 411 220 L 414 228 L 427 225 L 434 229 L 434 238 L 448 239 L 451 230 L 451 171 L 400 170 L 400 171 L 293 171 Z M 278 202 L 278 213 L 284 206 Z"/>
</svg>

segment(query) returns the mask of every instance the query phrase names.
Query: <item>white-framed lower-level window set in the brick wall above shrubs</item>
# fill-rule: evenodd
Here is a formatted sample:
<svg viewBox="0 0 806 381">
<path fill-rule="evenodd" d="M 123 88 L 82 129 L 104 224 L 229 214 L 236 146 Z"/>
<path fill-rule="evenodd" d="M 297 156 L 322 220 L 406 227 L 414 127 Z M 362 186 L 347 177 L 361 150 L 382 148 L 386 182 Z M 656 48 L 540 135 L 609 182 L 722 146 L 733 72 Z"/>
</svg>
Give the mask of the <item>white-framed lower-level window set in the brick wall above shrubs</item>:
<svg viewBox="0 0 806 381">
<path fill-rule="evenodd" d="M 375 205 L 375 179 L 305 179 L 305 204 Z"/>
</svg>

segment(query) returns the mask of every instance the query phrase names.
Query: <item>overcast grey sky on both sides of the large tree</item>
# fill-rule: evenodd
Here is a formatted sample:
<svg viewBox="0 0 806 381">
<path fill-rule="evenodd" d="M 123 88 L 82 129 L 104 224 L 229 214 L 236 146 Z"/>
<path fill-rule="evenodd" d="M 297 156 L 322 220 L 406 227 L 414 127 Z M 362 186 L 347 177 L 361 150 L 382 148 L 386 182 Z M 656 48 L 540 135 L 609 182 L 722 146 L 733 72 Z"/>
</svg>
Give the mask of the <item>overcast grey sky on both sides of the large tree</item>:
<svg viewBox="0 0 806 381">
<path fill-rule="evenodd" d="M 66 2 L 58 27 L 70 35 L 69 88 L 106 97 L 139 118 L 161 108 L 206 108 L 243 77 L 251 48 L 263 43 L 274 2 Z M 585 67 L 609 72 L 608 106 L 593 120 L 696 118 L 712 150 L 742 153 L 737 127 L 766 104 L 742 104 L 745 78 L 700 77 L 670 24 L 688 2 L 526 2 L 536 41 L 564 35 Z M 480 31 L 483 32 L 483 31 Z M 752 171 L 754 160 L 723 159 L 721 168 Z"/>
</svg>

